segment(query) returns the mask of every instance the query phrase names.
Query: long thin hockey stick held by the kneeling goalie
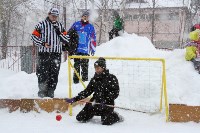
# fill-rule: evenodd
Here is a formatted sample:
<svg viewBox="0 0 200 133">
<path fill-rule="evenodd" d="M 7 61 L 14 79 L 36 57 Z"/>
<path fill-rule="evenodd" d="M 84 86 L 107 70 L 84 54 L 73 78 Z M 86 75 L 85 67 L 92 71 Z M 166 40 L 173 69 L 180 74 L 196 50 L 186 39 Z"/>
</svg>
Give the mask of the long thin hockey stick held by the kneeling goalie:
<svg viewBox="0 0 200 133">
<path fill-rule="evenodd" d="M 80 100 L 78 102 L 81 102 L 81 103 L 91 103 L 91 104 L 99 104 L 99 105 L 101 104 L 101 103 L 95 103 L 95 102 L 87 102 L 87 101 L 83 101 L 83 100 Z M 139 112 L 139 113 L 144 113 L 144 114 L 150 114 L 150 115 L 155 115 L 155 114 L 160 113 L 160 111 L 147 112 L 147 111 L 135 110 L 135 109 L 125 108 L 125 107 L 119 107 L 119 106 L 115 106 L 115 105 L 108 105 L 108 104 L 104 104 L 104 105 L 107 106 L 107 107 L 111 107 L 111 108 L 118 108 L 118 109 L 122 109 L 122 110 L 129 110 L 129 111 L 134 111 L 134 112 Z"/>
</svg>

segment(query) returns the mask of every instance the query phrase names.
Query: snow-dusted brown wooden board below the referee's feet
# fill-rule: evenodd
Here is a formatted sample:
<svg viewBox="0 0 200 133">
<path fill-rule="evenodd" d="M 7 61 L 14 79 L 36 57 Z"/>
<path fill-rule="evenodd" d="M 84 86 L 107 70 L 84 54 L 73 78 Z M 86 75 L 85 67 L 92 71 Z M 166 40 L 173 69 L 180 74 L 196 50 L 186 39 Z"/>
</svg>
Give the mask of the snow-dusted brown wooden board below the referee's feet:
<svg viewBox="0 0 200 133">
<path fill-rule="evenodd" d="M 0 109 L 8 108 L 9 112 L 46 111 L 66 112 L 68 103 L 64 99 L 0 99 Z"/>
</svg>

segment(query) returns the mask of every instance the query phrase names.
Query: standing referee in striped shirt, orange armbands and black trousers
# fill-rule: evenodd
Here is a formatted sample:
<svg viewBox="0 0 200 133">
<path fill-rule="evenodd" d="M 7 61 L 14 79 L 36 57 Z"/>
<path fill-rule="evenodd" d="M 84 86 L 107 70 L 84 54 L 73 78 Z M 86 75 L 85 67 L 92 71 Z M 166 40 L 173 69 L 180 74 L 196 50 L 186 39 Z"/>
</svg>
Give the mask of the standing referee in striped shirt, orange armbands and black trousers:
<svg viewBox="0 0 200 133">
<path fill-rule="evenodd" d="M 62 45 L 68 43 L 68 35 L 63 25 L 58 22 L 59 11 L 51 8 L 48 17 L 36 25 L 32 41 L 38 47 L 38 96 L 54 97 L 61 64 Z"/>
</svg>

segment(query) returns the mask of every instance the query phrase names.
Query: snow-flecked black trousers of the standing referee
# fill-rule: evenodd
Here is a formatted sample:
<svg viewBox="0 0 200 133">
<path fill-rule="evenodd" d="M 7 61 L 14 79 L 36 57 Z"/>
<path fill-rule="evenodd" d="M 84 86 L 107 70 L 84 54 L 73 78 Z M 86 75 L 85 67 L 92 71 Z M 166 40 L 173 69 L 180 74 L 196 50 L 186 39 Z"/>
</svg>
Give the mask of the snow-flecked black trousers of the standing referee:
<svg viewBox="0 0 200 133">
<path fill-rule="evenodd" d="M 60 53 L 39 53 L 36 74 L 38 77 L 38 96 L 54 97 L 60 70 Z"/>
</svg>

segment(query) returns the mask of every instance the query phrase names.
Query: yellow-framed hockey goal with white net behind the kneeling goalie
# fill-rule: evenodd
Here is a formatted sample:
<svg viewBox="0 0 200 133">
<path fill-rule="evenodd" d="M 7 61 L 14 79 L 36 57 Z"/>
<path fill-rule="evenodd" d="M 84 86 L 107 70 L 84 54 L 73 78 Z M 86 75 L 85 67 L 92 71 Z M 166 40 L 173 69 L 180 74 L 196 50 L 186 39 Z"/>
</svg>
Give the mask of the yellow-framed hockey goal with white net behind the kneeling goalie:
<svg viewBox="0 0 200 133">
<path fill-rule="evenodd" d="M 95 74 L 94 63 L 99 57 L 70 56 L 68 59 L 69 97 L 86 88 L 89 82 L 73 84 L 74 58 L 89 59 L 89 81 Z M 165 103 L 168 120 L 165 60 L 159 58 L 104 57 L 106 67 L 119 81 L 120 93 L 116 107 L 144 113 L 160 112 Z M 76 71 L 75 71 L 76 73 Z M 80 89 L 81 88 L 81 89 Z"/>
</svg>

